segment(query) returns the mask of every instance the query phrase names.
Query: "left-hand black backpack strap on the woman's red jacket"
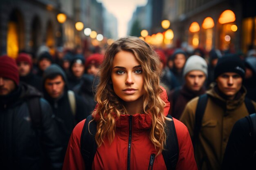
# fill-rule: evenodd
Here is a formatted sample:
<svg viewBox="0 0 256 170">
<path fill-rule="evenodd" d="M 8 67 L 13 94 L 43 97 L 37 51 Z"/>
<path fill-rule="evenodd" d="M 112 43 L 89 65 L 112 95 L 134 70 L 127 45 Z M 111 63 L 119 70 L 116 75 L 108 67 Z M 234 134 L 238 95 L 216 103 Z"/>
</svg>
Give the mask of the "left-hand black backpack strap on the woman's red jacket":
<svg viewBox="0 0 256 170">
<path fill-rule="evenodd" d="M 97 124 L 95 121 L 93 121 L 92 115 L 89 115 L 86 118 L 85 124 L 83 126 L 80 146 L 86 170 L 92 169 L 92 162 L 97 150 L 97 144 L 95 141 L 96 130 Z"/>
</svg>

